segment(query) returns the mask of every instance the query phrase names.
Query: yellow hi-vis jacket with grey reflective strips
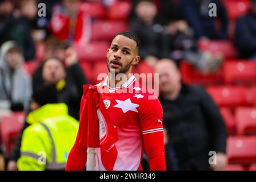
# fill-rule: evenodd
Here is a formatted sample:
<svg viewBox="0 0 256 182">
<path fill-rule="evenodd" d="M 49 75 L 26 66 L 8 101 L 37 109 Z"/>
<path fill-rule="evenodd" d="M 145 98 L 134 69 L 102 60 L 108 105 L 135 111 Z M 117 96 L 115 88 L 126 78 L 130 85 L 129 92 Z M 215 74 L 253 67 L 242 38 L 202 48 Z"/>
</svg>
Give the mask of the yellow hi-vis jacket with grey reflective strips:
<svg viewBox="0 0 256 182">
<path fill-rule="evenodd" d="M 19 170 L 65 169 L 75 143 L 79 122 L 68 115 L 67 105 L 47 104 L 31 111 L 22 135 Z"/>
</svg>

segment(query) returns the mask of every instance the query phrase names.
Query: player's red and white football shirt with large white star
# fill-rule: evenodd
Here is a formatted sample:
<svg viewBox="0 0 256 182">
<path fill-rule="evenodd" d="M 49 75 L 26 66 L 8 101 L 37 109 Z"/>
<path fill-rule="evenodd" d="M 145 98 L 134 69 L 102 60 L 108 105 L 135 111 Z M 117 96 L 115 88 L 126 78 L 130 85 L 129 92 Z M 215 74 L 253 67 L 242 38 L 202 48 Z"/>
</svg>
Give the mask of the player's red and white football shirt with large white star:
<svg viewBox="0 0 256 182">
<path fill-rule="evenodd" d="M 153 94 L 142 88 L 134 76 L 118 88 L 110 88 L 106 77 L 97 87 L 118 135 L 115 143 L 118 155 L 113 170 L 141 170 L 143 135 L 163 133 L 163 110 L 158 98 L 152 99 Z M 105 170 L 100 148 L 95 151 L 96 170 Z"/>
</svg>

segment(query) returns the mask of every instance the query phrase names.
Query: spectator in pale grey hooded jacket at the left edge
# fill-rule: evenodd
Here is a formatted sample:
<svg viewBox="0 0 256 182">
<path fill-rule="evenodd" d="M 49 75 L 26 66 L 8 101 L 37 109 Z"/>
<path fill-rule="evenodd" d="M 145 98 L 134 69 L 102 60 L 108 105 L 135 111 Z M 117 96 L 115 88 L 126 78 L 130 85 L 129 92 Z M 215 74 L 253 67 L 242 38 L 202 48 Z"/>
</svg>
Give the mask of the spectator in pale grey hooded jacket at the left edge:
<svg viewBox="0 0 256 182">
<path fill-rule="evenodd" d="M 13 111 L 28 111 L 30 102 L 31 80 L 22 69 L 23 61 L 18 44 L 9 41 L 1 46 L 0 100 L 9 103 L 7 109 Z"/>
</svg>

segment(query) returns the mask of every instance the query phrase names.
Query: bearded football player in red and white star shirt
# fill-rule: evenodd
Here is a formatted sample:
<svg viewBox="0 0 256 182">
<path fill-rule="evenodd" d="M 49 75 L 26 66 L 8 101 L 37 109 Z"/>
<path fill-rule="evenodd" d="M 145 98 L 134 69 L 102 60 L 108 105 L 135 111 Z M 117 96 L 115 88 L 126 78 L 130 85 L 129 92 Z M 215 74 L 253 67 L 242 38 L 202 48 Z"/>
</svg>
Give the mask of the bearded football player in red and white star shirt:
<svg viewBox="0 0 256 182">
<path fill-rule="evenodd" d="M 141 160 L 146 150 L 150 170 L 166 170 L 163 139 L 163 109 L 158 98 L 144 88 L 131 73 L 133 65 L 139 63 L 138 37 L 131 32 L 121 32 L 114 36 L 107 52 L 108 76 L 95 86 L 98 103 L 89 102 L 95 96 L 88 95 L 88 86 L 84 86 L 81 100 L 80 127 L 76 142 L 69 153 L 66 170 L 82 170 L 87 157 L 88 120 L 95 118 L 94 105 L 100 105 L 98 114 L 100 146 L 95 148 L 95 170 L 136 171 L 142 170 Z M 119 73 L 127 79 L 120 81 Z M 90 91 L 90 90 L 89 90 Z M 90 91 L 91 92 L 91 91 Z M 89 92 L 89 94 L 90 94 Z M 93 104 L 90 104 L 93 103 Z M 104 108 L 101 109 L 101 105 Z M 109 121 L 117 139 L 105 151 L 101 143 L 112 135 L 108 130 Z M 89 127 L 89 126 L 88 126 Z M 113 132 L 112 131 L 112 132 Z M 105 152 L 105 153 L 104 153 Z M 106 157 L 109 153 L 109 158 Z M 89 154 L 89 153 L 88 153 Z"/>
</svg>

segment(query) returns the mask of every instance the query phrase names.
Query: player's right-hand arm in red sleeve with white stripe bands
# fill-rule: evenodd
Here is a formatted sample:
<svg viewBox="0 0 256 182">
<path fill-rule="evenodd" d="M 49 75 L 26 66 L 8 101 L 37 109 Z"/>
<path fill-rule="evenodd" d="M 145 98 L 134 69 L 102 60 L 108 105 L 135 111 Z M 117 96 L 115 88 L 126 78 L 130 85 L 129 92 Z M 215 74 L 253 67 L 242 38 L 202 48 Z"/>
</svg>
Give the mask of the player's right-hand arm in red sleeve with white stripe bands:
<svg viewBox="0 0 256 182">
<path fill-rule="evenodd" d="M 165 171 L 163 109 L 158 99 L 142 102 L 139 122 L 150 170 Z"/>
</svg>

